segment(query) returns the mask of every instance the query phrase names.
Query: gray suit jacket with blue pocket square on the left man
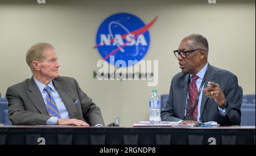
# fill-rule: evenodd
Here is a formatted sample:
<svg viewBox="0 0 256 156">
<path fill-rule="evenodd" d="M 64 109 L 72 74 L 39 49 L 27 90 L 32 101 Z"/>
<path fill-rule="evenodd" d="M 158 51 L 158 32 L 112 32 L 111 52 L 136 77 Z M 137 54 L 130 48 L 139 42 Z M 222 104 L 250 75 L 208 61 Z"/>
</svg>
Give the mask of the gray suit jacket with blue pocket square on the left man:
<svg viewBox="0 0 256 156">
<path fill-rule="evenodd" d="M 104 125 L 100 108 L 81 90 L 75 79 L 58 77 L 52 82 L 71 119 L 85 120 L 89 125 Z M 6 98 L 13 125 L 46 125 L 50 116 L 34 78 L 9 87 Z M 74 104 L 76 100 L 79 100 L 78 104 Z"/>
</svg>

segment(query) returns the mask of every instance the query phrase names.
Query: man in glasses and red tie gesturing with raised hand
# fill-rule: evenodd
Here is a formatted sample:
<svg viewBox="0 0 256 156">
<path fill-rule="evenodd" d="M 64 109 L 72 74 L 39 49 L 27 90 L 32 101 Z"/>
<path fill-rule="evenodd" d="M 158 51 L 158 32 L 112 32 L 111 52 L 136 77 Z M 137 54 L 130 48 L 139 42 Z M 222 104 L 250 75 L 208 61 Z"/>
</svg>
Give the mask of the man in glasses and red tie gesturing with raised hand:
<svg viewBox="0 0 256 156">
<path fill-rule="evenodd" d="M 174 54 L 182 72 L 172 78 L 162 121 L 240 125 L 242 94 L 237 77 L 208 63 L 207 39 L 195 33 L 188 35 Z"/>
</svg>

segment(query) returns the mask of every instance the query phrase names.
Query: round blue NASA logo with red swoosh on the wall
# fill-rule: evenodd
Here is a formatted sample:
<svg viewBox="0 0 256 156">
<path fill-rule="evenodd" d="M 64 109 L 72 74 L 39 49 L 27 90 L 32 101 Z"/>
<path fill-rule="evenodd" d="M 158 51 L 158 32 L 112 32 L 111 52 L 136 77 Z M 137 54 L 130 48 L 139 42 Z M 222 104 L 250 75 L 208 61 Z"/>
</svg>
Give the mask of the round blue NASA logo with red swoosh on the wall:
<svg viewBox="0 0 256 156">
<path fill-rule="evenodd" d="M 96 35 L 94 48 L 102 58 L 109 63 L 123 60 L 140 61 L 150 47 L 150 28 L 157 19 L 153 19 L 147 25 L 137 16 L 128 13 L 118 13 L 109 16 L 101 23 Z M 110 61 L 114 56 L 114 61 Z M 133 65 L 133 64 L 132 64 Z"/>
</svg>

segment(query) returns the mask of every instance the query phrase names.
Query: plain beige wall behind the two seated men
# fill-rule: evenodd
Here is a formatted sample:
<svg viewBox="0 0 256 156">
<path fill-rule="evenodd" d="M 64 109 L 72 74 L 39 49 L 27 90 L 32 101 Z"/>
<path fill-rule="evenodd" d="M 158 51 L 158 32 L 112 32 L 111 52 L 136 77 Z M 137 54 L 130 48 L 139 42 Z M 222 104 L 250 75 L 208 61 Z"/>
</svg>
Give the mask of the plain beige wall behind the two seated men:
<svg viewBox="0 0 256 156">
<path fill-rule="evenodd" d="M 144 60 L 159 60 L 159 83 L 98 81 L 101 60 L 95 44 L 101 22 L 118 12 L 137 15 L 149 23 L 151 45 Z M 173 50 L 188 33 L 201 33 L 209 42 L 211 65 L 238 77 L 244 94 L 255 94 L 255 1 L 0 1 L 0 92 L 31 77 L 25 55 L 31 45 L 51 43 L 59 55 L 60 74 L 74 77 L 101 108 L 105 123 L 120 118 L 122 126 L 148 120 L 152 88 L 168 93 L 171 78 L 180 71 Z"/>
</svg>

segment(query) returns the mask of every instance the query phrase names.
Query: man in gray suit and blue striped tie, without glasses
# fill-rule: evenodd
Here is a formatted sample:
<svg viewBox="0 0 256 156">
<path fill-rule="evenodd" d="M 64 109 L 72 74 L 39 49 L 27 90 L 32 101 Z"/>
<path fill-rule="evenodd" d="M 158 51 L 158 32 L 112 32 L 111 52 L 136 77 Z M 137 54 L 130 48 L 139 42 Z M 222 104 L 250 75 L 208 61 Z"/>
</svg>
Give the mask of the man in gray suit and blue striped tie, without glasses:
<svg viewBox="0 0 256 156">
<path fill-rule="evenodd" d="M 13 125 L 104 125 L 100 108 L 77 81 L 59 76 L 55 49 L 33 45 L 26 54 L 32 77 L 7 89 L 9 119 Z"/>
</svg>

